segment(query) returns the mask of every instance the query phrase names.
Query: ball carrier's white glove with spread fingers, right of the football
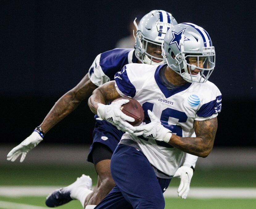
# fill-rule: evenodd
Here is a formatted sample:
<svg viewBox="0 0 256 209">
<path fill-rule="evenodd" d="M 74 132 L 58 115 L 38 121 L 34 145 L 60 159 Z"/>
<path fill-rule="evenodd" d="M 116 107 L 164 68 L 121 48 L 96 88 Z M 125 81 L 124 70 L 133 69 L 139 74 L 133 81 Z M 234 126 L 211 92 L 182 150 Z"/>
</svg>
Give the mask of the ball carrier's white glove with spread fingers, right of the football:
<svg viewBox="0 0 256 209">
<path fill-rule="evenodd" d="M 154 113 L 150 110 L 148 110 L 147 113 L 151 122 L 146 125 L 136 126 L 136 132 L 133 135 L 143 135 L 145 138 L 153 138 L 155 140 L 168 143 L 171 138 L 171 131 L 161 124 L 160 120 L 155 117 Z"/>
</svg>

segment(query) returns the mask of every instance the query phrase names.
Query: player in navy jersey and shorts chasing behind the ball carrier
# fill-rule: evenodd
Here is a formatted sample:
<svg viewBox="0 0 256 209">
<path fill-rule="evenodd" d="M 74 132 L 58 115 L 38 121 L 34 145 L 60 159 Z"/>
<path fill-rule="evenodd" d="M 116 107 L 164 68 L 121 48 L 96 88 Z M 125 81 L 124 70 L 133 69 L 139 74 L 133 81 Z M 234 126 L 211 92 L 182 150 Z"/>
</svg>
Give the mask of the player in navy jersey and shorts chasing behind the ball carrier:
<svg viewBox="0 0 256 209">
<path fill-rule="evenodd" d="M 149 21 L 143 21 L 146 18 Z M 161 43 L 167 30 L 175 24 L 177 24 L 176 20 L 166 11 L 153 10 L 146 14 L 137 26 L 135 49 L 116 48 L 99 54 L 80 83 L 56 102 L 43 122 L 35 128 L 29 137 L 10 151 L 7 159 L 15 161 L 21 155 L 20 162 L 23 162 L 27 152 L 43 140 L 45 133 L 76 109 L 82 100 L 92 94 L 94 89 L 114 80 L 115 73 L 120 71 L 124 65 L 129 63 L 164 64 Z M 49 195 L 46 200 L 47 206 L 59 206 L 72 199 L 79 199 L 85 206 L 96 205 L 114 187 L 115 183 L 110 174 L 110 158 L 124 132 L 106 121 L 100 120 L 97 115 L 95 119 L 93 144 L 90 146 L 88 155 L 88 161 L 94 163 L 98 174 L 98 182 L 94 191 L 91 191 L 91 178 L 82 175 L 72 185 Z M 186 167 L 182 168 L 184 167 L 182 166 L 180 172 L 177 172 L 177 176 L 183 179 L 183 185 L 179 188 L 179 196 L 182 198 L 186 198 L 188 194 L 193 174 L 192 168 L 195 167 L 196 160 L 196 156 L 188 155 L 184 163 Z M 191 166 L 192 168 L 190 168 Z M 186 172 L 189 177 L 185 174 Z M 79 188 L 76 188 L 76 194 L 73 194 L 71 188 L 77 186 Z M 78 194 L 80 194 L 79 198 L 77 198 Z"/>
</svg>

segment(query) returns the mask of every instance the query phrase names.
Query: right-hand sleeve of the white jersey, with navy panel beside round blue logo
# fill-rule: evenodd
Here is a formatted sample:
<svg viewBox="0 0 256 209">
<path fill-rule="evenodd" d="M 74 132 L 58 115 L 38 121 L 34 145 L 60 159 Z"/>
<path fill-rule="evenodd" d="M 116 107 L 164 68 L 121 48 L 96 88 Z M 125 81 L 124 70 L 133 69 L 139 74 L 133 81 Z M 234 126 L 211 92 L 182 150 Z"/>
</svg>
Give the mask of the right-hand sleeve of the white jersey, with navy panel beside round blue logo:
<svg viewBox="0 0 256 209">
<path fill-rule="evenodd" d="M 198 109 L 196 113 L 196 121 L 205 121 L 217 117 L 218 113 L 221 112 L 221 92 L 213 84 L 204 93 L 206 96 L 204 98 L 204 104 Z"/>
</svg>

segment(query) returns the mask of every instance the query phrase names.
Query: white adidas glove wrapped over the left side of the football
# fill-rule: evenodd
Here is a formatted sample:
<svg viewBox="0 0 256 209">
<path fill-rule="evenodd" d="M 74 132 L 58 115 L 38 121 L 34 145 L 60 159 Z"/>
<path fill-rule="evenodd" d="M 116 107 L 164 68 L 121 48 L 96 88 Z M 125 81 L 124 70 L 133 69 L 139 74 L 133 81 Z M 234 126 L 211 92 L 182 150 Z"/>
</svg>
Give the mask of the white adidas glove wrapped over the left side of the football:
<svg viewBox="0 0 256 209">
<path fill-rule="evenodd" d="M 120 110 L 120 107 L 128 102 L 129 100 L 121 99 L 112 102 L 110 105 L 103 105 L 98 103 L 97 115 L 109 123 L 115 125 L 119 130 L 133 133 L 135 128 L 127 121 L 134 122 L 134 118 L 127 116 Z"/>
</svg>

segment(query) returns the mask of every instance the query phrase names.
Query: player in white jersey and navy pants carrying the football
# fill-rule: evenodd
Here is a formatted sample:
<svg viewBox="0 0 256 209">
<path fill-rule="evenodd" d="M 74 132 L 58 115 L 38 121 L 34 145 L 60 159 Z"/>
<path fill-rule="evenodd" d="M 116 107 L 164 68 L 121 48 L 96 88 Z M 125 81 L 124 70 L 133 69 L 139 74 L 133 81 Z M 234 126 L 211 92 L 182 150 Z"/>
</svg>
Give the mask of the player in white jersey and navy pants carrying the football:
<svg viewBox="0 0 256 209">
<path fill-rule="evenodd" d="M 93 113 L 126 131 L 111 158 L 116 186 L 95 208 L 164 208 L 183 152 L 205 158 L 213 148 L 221 92 L 208 81 L 215 67 L 209 34 L 192 23 L 174 25 L 162 51 L 167 64 L 127 64 L 88 100 Z M 129 100 L 107 105 L 126 96 L 142 105 L 144 124 L 127 122 L 134 119 L 120 107 Z"/>
</svg>

